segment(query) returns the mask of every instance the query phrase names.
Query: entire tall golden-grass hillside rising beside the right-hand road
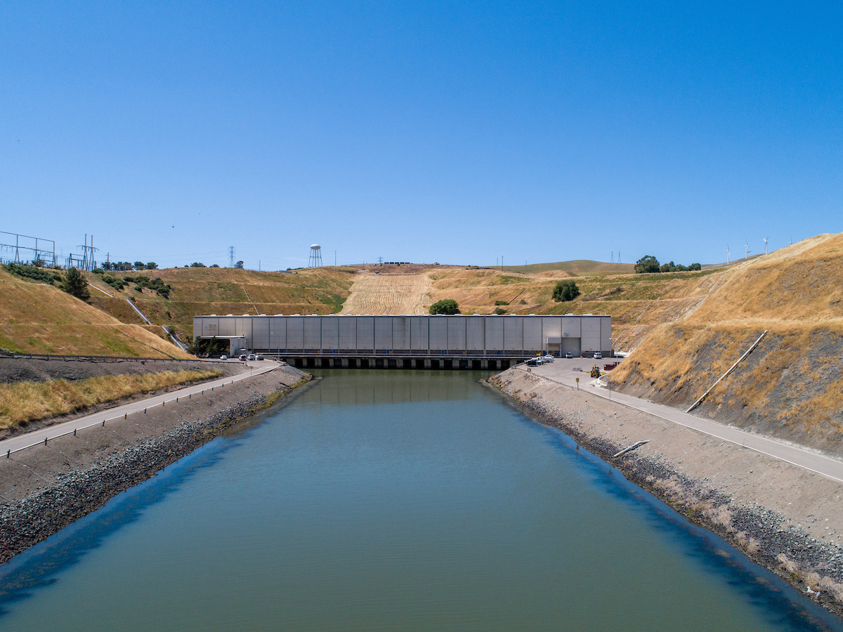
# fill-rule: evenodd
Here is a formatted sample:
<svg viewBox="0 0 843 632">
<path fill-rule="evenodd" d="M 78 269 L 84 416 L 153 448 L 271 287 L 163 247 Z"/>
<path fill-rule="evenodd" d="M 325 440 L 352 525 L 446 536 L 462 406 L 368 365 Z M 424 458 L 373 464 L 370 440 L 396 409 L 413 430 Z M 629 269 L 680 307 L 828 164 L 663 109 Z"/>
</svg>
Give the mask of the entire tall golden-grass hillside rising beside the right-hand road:
<svg viewBox="0 0 843 632">
<path fill-rule="evenodd" d="M 613 374 L 616 388 L 687 407 L 767 330 L 696 410 L 843 453 L 843 235 L 719 270 L 710 284 L 652 328 Z"/>
</svg>

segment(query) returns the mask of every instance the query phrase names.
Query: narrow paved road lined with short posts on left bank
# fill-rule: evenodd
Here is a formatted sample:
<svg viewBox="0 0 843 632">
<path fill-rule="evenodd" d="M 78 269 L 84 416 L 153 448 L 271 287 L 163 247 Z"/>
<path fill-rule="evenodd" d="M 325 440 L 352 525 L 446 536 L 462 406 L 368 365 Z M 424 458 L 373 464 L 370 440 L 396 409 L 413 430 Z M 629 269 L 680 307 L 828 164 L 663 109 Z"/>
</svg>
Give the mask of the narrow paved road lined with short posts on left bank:
<svg viewBox="0 0 843 632">
<path fill-rule="evenodd" d="M 9 451 L 14 453 L 18 450 L 23 450 L 24 447 L 35 446 L 39 443 L 43 443 L 45 439 L 49 440 L 56 437 L 62 437 L 63 435 L 72 433 L 74 430 L 82 430 L 83 428 L 97 426 L 103 421 L 117 419 L 123 415 L 131 415 L 132 413 L 141 412 L 144 409 L 161 406 L 165 403 L 173 402 L 176 399 L 200 394 L 202 391 L 210 391 L 212 388 L 226 388 L 230 384 L 237 383 L 240 380 L 253 378 L 256 375 L 262 375 L 263 373 L 270 372 L 279 366 L 280 365 L 278 365 L 277 362 L 255 362 L 255 365 L 250 364 L 248 371 L 242 372 L 239 375 L 234 375 L 228 378 L 220 378 L 212 380 L 211 382 L 203 382 L 187 388 L 180 388 L 180 390 L 177 391 L 170 391 L 169 393 L 156 395 L 155 397 L 150 397 L 148 399 L 141 399 L 136 402 L 132 402 L 131 404 L 115 406 L 115 408 L 107 410 L 100 410 L 94 415 L 85 415 L 84 417 L 79 417 L 78 419 L 65 421 L 62 424 L 56 424 L 55 426 L 48 426 L 46 428 L 41 428 L 40 430 L 27 432 L 25 435 L 20 435 L 19 437 L 5 439 L 4 441 L 0 441 L 0 456 L 5 456 Z"/>
</svg>

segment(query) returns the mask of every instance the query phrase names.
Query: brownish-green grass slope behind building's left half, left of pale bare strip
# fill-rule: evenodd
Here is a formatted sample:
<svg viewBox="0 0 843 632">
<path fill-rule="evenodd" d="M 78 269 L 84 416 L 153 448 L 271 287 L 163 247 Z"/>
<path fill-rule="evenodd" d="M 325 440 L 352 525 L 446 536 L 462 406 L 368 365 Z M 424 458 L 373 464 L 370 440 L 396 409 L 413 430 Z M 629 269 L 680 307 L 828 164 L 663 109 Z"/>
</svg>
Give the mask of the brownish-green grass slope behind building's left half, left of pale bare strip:
<svg viewBox="0 0 843 632">
<path fill-rule="evenodd" d="M 92 291 L 92 303 L 123 322 L 140 323 L 126 298 L 155 324 L 175 328 L 182 340 L 193 335 L 193 317 L 227 313 L 335 313 L 342 307 L 352 286 L 353 270 L 324 267 L 313 270 L 258 272 L 228 268 L 168 268 L 141 272 L 117 272 L 115 276 L 160 277 L 172 287 L 169 299 L 154 292 L 137 292 L 130 283 L 117 292 L 99 276 L 86 273 L 89 281 L 115 299 Z M 94 296 L 94 293 L 99 296 Z M 163 332 L 161 332 L 163 335 Z"/>
</svg>

